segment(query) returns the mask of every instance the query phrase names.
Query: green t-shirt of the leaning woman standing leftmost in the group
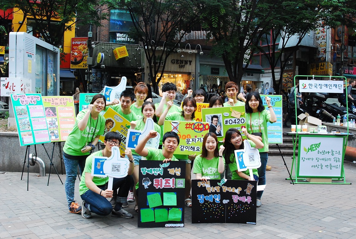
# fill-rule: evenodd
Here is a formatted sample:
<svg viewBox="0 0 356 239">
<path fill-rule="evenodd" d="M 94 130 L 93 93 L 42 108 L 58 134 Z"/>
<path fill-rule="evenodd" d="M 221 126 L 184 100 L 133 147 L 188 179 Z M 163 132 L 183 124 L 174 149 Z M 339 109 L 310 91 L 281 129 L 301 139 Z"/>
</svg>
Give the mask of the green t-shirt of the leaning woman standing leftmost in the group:
<svg viewBox="0 0 356 239">
<path fill-rule="evenodd" d="M 78 122 L 84 118 L 85 113 L 87 113 L 87 110 L 82 110 L 78 113 L 73 131 L 68 135 L 66 143 L 64 144 L 63 151 L 68 155 L 89 155 L 89 152 L 83 154 L 81 151 L 85 146 L 85 142 L 90 143 L 91 139 L 94 140 L 97 135 L 104 134 L 105 119 L 104 116 L 100 114 L 96 120 L 89 117 L 87 127 L 82 131 L 79 130 Z"/>
</svg>

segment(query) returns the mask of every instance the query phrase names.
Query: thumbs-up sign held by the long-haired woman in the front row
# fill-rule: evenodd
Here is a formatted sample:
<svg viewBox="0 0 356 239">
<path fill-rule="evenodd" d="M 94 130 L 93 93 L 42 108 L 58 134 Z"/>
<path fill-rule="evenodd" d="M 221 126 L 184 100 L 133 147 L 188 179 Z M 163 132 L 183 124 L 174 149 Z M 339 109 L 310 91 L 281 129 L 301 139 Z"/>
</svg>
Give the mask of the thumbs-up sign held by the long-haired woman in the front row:
<svg viewBox="0 0 356 239">
<path fill-rule="evenodd" d="M 261 157 L 258 149 L 251 147 L 247 140 L 244 140 L 244 149 L 235 150 L 235 159 L 237 163 L 237 171 L 246 171 L 250 169 L 250 177 L 253 178 L 252 168 L 261 166 Z"/>
</svg>

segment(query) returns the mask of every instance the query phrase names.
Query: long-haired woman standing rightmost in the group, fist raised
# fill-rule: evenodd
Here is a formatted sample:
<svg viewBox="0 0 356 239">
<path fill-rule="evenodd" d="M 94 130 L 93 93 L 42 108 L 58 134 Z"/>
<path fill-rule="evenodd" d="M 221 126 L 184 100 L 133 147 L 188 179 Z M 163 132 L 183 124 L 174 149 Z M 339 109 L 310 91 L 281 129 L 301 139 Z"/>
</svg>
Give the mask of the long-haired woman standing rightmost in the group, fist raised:
<svg viewBox="0 0 356 239">
<path fill-rule="evenodd" d="M 267 122 L 274 123 L 277 121 L 276 114 L 271 105 L 271 98 L 266 97 L 268 110 L 263 106 L 260 94 L 250 92 L 246 98 L 246 125 L 249 134 L 255 133 L 260 135 L 264 147 L 258 149 L 261 157 L 261 167 L 258 168 L 258 185 L 266 185 L 266 165 L 268 161 L 268 137 Z M 263 191 L 257 192 L 257 207 L 261 207 L 261 197 Z"/>
</svg>

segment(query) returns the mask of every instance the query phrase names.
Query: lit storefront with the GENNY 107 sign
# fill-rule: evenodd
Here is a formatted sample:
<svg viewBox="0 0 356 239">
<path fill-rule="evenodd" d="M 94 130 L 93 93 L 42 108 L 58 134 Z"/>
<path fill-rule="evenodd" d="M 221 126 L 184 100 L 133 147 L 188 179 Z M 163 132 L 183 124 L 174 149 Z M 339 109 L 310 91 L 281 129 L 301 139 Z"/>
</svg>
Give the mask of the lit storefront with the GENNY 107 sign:
<svg viewBox="0 0 356 239">
<path fill-rule="evenodd" d="M 159 62 L 163 64 L 163 62 Z M 161 69 L 161 67 L 159 67 Z M 148 62 L 146 61 L 146 73 L 149 72 Z M 146 82 L 151 83 L 151 78 L 148 73 L 145 74 Z M 161 74 L 157 75 L 157 78 Z M 162 95 L 162 85 L 167 82 L 172 82 L 177 85 L 177 92 L 184 95 L 187 87 L 194 88 L 193 80 L 195 78 L 195 54 L 188 53 L 172 53 L 167 58 L 166 67 L 164 68 L 163 76 L 158 83 L 159 94 Z M 179 93 L 178 93 L 179 94 Z"/>
</svg>

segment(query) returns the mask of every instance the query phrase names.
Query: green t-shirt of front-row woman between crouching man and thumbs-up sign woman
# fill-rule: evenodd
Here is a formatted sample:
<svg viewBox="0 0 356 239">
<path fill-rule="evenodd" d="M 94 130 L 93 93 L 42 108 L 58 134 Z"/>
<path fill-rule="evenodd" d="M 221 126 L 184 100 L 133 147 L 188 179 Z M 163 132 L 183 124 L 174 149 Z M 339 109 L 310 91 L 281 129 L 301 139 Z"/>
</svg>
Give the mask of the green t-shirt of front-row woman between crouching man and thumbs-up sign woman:
<svg viewBox="0 0 356 239">
<path fill-rule="evenodd" d="M 202 177 L 208 177 L 210 179 L 220 179 L 218 166 L 219 157 L 214 157 L 211 160 L 207 160 L 201 157 L 201 155 L 198 155 L 194 160 L 193 173 L 201 173 Z"/>
</svg>

